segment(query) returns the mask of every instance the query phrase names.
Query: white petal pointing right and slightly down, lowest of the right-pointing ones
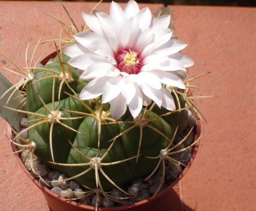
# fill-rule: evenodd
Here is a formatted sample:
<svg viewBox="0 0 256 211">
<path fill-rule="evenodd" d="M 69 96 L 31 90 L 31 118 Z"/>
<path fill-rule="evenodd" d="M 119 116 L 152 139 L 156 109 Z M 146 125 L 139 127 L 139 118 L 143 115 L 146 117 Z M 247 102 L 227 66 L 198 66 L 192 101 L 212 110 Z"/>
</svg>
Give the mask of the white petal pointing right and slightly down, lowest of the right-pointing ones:
<svg viewBox="0 0 256 211">
<path fill-rule="evenodd" d="M 173 73 L 161 70 L 152 70 L 149 73 L 153 73 L 163 83 L 173 87 L 185 89 L 185 85 L 181 78 Z"/>
</svg>

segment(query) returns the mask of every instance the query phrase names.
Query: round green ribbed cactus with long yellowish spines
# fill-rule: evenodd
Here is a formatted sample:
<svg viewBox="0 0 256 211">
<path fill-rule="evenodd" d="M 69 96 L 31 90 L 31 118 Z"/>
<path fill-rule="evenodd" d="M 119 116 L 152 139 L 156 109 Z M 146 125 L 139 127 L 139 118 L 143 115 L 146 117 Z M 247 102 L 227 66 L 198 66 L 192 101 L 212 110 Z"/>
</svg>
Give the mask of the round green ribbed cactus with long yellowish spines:
<svg viewBox="0 0 256 211">
<path fill-rule="evenodd" d="M 71 17 L 69 14 L 68 16 Z M 64 25 L 63 22 L 58 21 Z M 66 30 L 77 34 L 78 29 L 73 21 L 72 23 L 73 27 L 68 27 Z M 113 118 L 115 115 L 113 110 L 110 112 L 111 103 L 115 103 L 114 101 L 103 103 L 102 95 L 93 99 L 80 98 L 80 93 L 90 80 L 84 79 L 83 75 L 79 77 L 81 70 L 73 67 L 70 64 L 72 58 L 63 53 L 63 44 L 72 45 L 76 40 L 70 36 L 67 39 L 63 38 L 62 30 L 60 38 L 54 40 L 59 42 L 59 48 L 56 47 L 52 62 L 43 66 L 36 62 L 33 66 L 32 57 L 30 64 L 28 62 L 26 64 L 27 72 L 12 62 L 17 74 L 24 76 L 24 80 L 19 82 L 17 87 L 26 95 L 26 102 L 22 102 L 26 106 L 24 110 L 9 109 L 26 113 L 29 124 L 23 131 L 13 131 L 15 133 L 13 140 L 19 139 L 20 142 L 14 142 L 20 148 L 17 152 L 24 150 L 30 152 L 31 169 L 36 175 L 38 172 L 34 167 L 34 156 L 44 161 L 49 168 L 67 176 L 61 181 L 54 182 L 73 180 L 91 189 L 91 192 L 97 193 L 97 197 L 98 193 L 101 193 L 112 200 L 117 199 L 108 195 L 109 190 L 117 188 L 126 196 L 130 196 L 124 189 L 129 181 L 139 177 L 150 181 L 160 175 L 161 181 L 155 195 L 161 189 L 165 172 L 169 171 L 168 164 L 185 167 L 186 163 L 179 160 L 179 153 L 192 148 L 200 138 L 184 145 L 186 139 L 197 130 L 197 122 L 195 122 L 179 142 L 175 141 L 187 110 L 195 116 L 195 119 L 196 116 L 202 118 L 200 110 L 193 102 L 193 99 L 200 97 L 192 97 L 188 91 L 189 87 L 194 88 L 188 82 L 195 78 L 184 80 L 184 90 L 162 86 L 161 90 L 168 92 L 173 98 L 176 107 L 173 111 L 151 102 L 148 105 L 143 104 L 136 117 L 130 110 L 126 110 L 116 120 Z M 86 30 L 87 26 L 84 26 L 82 32 Z M 40 42 L 41 39 L 36 48 Z M 132 65 L 141 62 L 139 56 L 138 59 L 136 58 L 139 55 L 137 52 L 129 50 L 125 59 L 127 55 L 130 59 L 128 62 Z M 44 54 L 40 59 L 43 56 Z M 117 67 L 124 69 L 125 72 L 127 65 L 118 63 L 121 56 L 116 59 Z M 128 66 L 130 63 L 127 63 Z M 28 139 L 23 137 L 26 132 L 29 134 Z M 40 175 L 38 176 L 41 178 Z M 97 207 L 98 204 L 96 209 Z"/>
</svg>

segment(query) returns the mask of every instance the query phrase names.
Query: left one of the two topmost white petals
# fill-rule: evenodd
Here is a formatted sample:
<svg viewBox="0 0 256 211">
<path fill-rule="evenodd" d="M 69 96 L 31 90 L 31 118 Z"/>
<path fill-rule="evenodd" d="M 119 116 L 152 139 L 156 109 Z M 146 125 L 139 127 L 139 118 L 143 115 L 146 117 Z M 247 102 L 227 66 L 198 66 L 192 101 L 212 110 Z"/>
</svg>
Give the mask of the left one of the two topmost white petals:
<svg viewBox="0 0 256 211">
<path fill-rule="evenodd" d="M 119 28 L 123 28 L 126 23 L 126 17 L 124 11 L 120 7 L 119 4 L 112 1 L 109 7 L 109 15 L 110 17 L 117 23 Z"/>
</svg>

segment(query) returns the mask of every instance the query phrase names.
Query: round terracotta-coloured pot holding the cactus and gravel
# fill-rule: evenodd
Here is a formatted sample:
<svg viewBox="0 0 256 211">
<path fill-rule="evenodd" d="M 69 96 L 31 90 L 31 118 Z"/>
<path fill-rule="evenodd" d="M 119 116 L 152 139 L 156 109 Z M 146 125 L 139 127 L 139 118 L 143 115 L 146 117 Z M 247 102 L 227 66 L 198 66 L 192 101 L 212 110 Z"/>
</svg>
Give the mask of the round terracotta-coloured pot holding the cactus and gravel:
<svg viewBox="0 0 256 211">
<path fill-rule="evenodd" d="M 54 58 L 55 56 L 56 56 L 56 52 L 53 52 L 52 54 L 44 58 L 41 61 L 41 63 L 45 65 L 50 58 Z M 196 140 L 199 137 L 199 135 L 200 135 L 200 121 L 198 120 L 198 128 L 197 128 L 194 140 Z M 8 136 L 10 138 L 14 138 L 14 136 L 11 133 L 10 127 L 8 128 Z M 15 152 L 16 151 L 15 145 L 12 144 L 11 147 L 12 147 L 12 150 Z M 188 171 L 188 168 L 191 166 L 193 160 L 195 159 L 198 147 L 199 147 L 199 141 L 196 143 L 195 146 L 193 146 L 192 157 L 189 160 L 187 167 L 185 167 L 184 170 L 182 171 L 179 178 L 177 178 L 173 183 L 171 183 L 166 189 L 157 193 L 153 198 L 150 197 L 147 200 L 143 200 L 135 204 L 129 204 L 127 206 L 122 206 L 122 207 L 98 208 L 98 211 L 149 211 L 150 207 L 154 204 L 154 202 L 156 202 L 159 197 L 165 197 L 166 195 L 168 195 L 168 192 L 172 190 L 173 186 L 175 186 L 181 180 L 181 178 L 185 175 L 185 173 Z M 76 203 L 74 201 L 66 200 L 63 197 L 57 195 L 56 193 L 53 193 L 51 190 L 41 185 L 41 183 L 39 183 L 38 180 L 35 179 L 30 174 L 30 172 L 23 165 L 23 162 L 21 161 L 19 154 L 15 154 L 15 157 L 19 165 L 22 167 L 23 171 L 26 173 L 26 175 L 42 191 L 52 211 L 94 211 L 95 210 L 95 208 L 92 206 L 87 206 L 87 205 Z M 169 200 L 169 203 L 172 203 L 171 199 L 168 198 L 167 200 Z"/>
</svg>

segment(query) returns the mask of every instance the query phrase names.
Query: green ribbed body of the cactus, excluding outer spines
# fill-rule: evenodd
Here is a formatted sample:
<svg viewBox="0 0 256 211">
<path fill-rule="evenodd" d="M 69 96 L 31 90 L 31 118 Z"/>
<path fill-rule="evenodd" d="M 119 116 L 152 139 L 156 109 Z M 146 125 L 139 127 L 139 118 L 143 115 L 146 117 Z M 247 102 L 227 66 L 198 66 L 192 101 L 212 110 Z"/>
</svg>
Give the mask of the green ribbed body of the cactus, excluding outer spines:
<svg viewBox="0 0 256 211">
<path fill-rule="evenodd" d="M 67 62 L 68 58 L 64 55 L 63 57 L 64 62 Z M 58 59 L 45 65 L 44 68 L 61 73 Z M 67 68 L 67 65 L 64 65 L 64 68 Z M 72 89 L 64 84 L 61 87 L 60 98 L 58 97 L 60 80 L 54 79 L 53 76 L 56 76 L 56 73 L 38 69 L 34 72 L 34 81 L 42 80 L 26 85 L 28 112 L 49 116 L 49 111 L 55 110 L 60 112 L 62 118 L 60 120 L 62 124 L 58 122 L 51 124 L 47 118 L 43 120 L 40 116 L 29 115 L 30 126 L 38 124 L 30 128 L 29 141 L 36 144 L 35 154 L 39 159 L 69 178 L 74 177 L 80 185 L 90 188 L 96 188 L 95 176 L 98 176 L 100 185 L 105 191 L 113 188 L 113 183 L 122 186 L 134 178 L 147 176 L 154 171 L 159 160 L 148 157 L 158 156 L 161 149 L 169 146 L 181 112 L 160 117 L 159 115 L 169 111 L 158 106 L 154 106 L 152 111 L 149 111 L 151 106 L 148 106 L 146 111 L 143 108 L 140 113 L 141 116 L 147 113 L 144 123 L 133 120 L 129 111 L 117 121 L 111 121 L 111 116 L 107 116 L 109 119 L 100 117 L 97 119 L 95 113 L 97 114 L 101 106 L 101 99 L 83 101 L 87 105 L 84 106 L 77 100 L 79 97 L 73 93 L 75 91 L 79 95 L 83 88 L 78 82 L 76 69 L 72 69 L 72 77 L 75 80 L 69 83 Z M 183 98 L 181 96 L 179 98 L 180 106 L 184 107 Z M 90 109 L 95 113 L 91 113 Z M 103 114 L 108 110 L 109 104 L 104 104 Z M 147 121 L 147 119 L 152 120 Z M 100 138 L 98 138 L 99 134 Z M 140 149 L 139 144 L 141 144 Z M 51 145 L 54 162 L 57 164 L 47 162 L 53 161 Z M 104 158 L 95 169 L 90 159 L 95 157 L 101 159 L 102 156 Z M 70 166 L 60 164 L 70 164 Z M 98 174 L 95 174 L 95 171 L 98 171 Z M 79 174 L 80 176 L 76 176 Z"/>
</svg>

